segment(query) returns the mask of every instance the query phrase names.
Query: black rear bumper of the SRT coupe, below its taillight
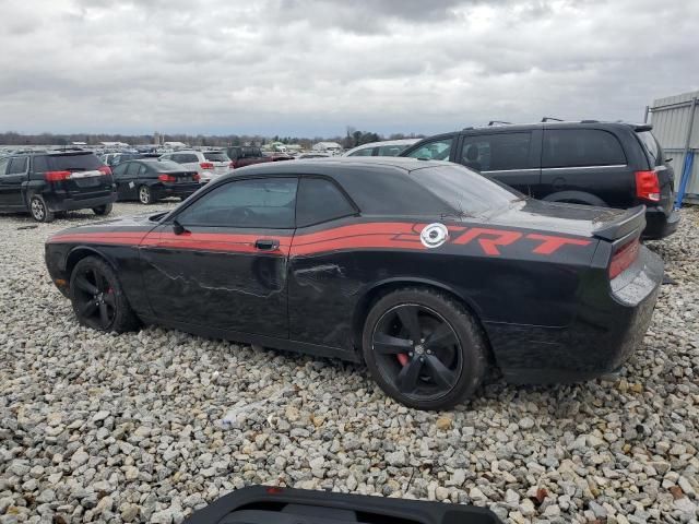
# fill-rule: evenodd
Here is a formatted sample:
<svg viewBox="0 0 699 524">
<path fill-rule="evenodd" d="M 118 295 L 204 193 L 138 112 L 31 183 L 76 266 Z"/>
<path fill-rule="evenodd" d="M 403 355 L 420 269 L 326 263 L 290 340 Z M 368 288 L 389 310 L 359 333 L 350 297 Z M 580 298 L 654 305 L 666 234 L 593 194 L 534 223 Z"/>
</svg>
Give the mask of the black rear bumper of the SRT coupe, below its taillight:
<svg viewBox="0 0 699 524">
<path fill-rule="evenodd" d="M 632 271 L 617 277 L 606 294 L 593 282 L 585 285 L 589 289 L 568 326 L 486 323 L 505 379 L 578 382 L 615 370 L 642 343 L 662 279 L 662 260 L 641 248 Z"/>
</svg>

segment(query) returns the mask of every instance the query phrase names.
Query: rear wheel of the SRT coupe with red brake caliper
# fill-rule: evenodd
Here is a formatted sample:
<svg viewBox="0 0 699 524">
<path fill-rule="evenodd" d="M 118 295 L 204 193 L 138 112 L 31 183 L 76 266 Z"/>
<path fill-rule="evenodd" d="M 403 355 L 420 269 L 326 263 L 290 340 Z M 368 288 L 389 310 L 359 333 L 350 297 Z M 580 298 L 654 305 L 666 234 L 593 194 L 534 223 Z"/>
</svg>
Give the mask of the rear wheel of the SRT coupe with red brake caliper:
<svg viewBox="0 0 699 524">
<path fill-rule="evenodd" d="M 486 342 L 475 320 L 437 290 L 404 288 L 380 298 L 367 315 L 362 342 L 374 380 L 417 409 L 447 409 L 465 401 L 487 369 Z"/>
</svg>

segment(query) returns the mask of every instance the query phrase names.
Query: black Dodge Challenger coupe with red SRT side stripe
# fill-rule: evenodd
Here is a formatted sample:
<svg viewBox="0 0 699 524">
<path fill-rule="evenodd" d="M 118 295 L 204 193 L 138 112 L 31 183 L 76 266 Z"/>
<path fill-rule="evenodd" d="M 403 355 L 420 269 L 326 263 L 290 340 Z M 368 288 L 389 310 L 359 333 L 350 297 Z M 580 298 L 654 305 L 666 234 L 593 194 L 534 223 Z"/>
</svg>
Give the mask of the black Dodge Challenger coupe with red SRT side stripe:
<svg viewBox="0 0 699 524">
<path fill-rule="evenodd" d="M 176 210 L 46 243 L 79 321 L 364 361 L 405 405 L 445 408 L 488 367 L 514 382 L 619 367 L 651 320 L 663 264 L 643 207 L 528 199 L 412 158 L 260 164 Z"/>
</svg>

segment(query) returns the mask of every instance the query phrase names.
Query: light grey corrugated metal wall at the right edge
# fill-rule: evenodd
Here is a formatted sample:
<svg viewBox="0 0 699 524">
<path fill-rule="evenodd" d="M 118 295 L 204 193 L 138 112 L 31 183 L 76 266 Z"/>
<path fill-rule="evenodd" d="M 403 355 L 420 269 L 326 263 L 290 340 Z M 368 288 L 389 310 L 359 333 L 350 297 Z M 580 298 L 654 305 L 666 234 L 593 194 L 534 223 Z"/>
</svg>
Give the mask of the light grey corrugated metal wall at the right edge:
<svg viewBox="0 0 699 524">
<path fill-rule="evenodd" d="M 650 114 L 653 134 L 672 158 L 675 169 L 675 191 L 683 190 L 682 177 L 686 172 L 684 202 L 699 204 L 699 91 L 653 100 L 645 108 Z"/>
</svg>

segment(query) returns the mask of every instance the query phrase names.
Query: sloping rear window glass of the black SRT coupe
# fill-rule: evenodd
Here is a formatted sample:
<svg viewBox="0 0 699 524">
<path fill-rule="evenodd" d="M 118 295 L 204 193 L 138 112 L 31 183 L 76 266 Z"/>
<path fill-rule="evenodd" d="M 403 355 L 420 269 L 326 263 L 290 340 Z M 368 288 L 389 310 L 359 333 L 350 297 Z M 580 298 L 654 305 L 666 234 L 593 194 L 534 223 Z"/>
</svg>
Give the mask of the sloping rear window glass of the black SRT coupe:
<svg viewBox="0 0 699 524">
<path fill-rule="evenodd" d="M 458 213 L 475 216 L 509 205 L 522 195 L 459 165 L 425 167 L 411 177 Z"/>
</svg>

